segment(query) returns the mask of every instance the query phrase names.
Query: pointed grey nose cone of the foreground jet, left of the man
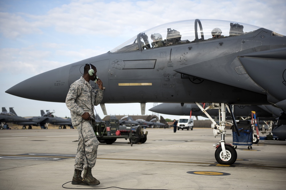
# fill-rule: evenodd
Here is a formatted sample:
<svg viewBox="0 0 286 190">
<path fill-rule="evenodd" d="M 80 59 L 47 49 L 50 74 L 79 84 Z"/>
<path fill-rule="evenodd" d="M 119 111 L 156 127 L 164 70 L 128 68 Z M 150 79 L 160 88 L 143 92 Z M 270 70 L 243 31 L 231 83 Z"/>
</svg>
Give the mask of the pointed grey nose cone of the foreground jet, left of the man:
<svg viewBox="0 0 286 190">
<path fill-rule="evenodd" d="M 41 73 L 11 87 L 6 93 L 11 95 L 51 102 L 65 102 L 69 90 L 70 65 Z"/>
</svg>

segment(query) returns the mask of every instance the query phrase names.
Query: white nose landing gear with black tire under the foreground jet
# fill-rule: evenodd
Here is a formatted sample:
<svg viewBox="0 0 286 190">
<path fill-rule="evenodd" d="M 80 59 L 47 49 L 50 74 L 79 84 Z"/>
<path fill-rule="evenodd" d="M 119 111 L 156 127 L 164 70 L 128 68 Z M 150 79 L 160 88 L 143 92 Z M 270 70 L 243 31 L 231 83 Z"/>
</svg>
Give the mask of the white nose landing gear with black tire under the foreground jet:
<svg viewBox="0 0 286 190">
<path fill-rule="evenodd" d="M 215 151 L 215 159 L 219 164 L 222 165 L 231 165 L 235 163 L 237 159 L 237 152 L 233 146 L 229 144 L 225 144 L 225 124 L 226 124 L 226 108 L 228 108 L 229 112 L 232 115 L 233 123 L 235 125 L 235 129 L 238 132 L 237 125 L 235 123 L 234 115 L 229 107 L 226 107 L 225 103 L 212 103 L 210 104 L 206 109 L 204 109 L 198 102 L 195 102 L 196 105 L 202 110 L 202 112 L 212 121 L 211 128 L 213 129 L 214 136 L 218 136 L 221 134 L 221 140 L 214 144 L 214 147 L 217 147 L 217 150 Z M 219 109 L 219 124 L 213 120 L 210 115 L 206 112 L 208 109 Z M 238 132 L 239 135 L 239 132 Z"/>
</svg>

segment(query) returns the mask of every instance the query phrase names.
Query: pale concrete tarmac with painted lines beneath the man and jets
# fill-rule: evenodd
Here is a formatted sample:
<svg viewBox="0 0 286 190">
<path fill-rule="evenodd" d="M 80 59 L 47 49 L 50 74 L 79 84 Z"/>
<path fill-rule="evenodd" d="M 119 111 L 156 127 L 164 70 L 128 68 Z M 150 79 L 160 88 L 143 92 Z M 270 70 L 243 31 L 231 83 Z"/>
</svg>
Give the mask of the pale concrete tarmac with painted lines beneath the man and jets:
<svg viewBox="0 0 286 190">
<path fill-rule="evenodd" d="M 146 131 L 144 144 L 131 146 L 125 139 L 100 143 L 92 170 L 100 185 L 83 186 L 69 182 L 76 129 L 1 130 L 0 189 L 285 189 L 285 141 L 260 140 L 252 150 L 238 146 L 237 161 L 222 166 L 212 146 L 220 135 L 214 138 L 211 128 Z M 228 129 L 226 142 L 232 140 Z"/>
</svg>

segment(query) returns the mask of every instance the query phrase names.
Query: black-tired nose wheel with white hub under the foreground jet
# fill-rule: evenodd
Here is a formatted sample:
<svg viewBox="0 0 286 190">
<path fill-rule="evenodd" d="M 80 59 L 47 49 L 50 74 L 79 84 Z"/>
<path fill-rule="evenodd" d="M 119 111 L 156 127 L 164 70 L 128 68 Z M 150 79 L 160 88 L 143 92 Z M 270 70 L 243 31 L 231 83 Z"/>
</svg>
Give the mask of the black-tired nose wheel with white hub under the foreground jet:
<svg viewBox="0 0 286 190">
<path fill-rule="evenodd" d="M 231 165 L 235 163 L 237 159 L 236 150 L 229 144 L 225 144 L 225 150 L 227 153 L 227 157 L 223 156 L 223 150 L 221 146 L 217 148 L 217 150 L 215 151 L 215 159 L 217 160 L 217 162 L 222 165 Z"/>
</svg>

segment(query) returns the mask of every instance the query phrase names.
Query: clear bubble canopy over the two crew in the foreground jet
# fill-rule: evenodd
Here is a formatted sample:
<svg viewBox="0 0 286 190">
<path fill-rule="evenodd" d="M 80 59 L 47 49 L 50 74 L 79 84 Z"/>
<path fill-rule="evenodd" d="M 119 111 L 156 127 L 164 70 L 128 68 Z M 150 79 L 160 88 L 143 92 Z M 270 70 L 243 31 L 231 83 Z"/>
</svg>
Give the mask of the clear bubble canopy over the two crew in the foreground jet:
<svg viewBox="0 0 286 190">
<path fill-rule="evenodd" d="M 261 27 L 250 24 L 221 20 L 185 20 L 161 24 L 139 33 L 130 40 L 111 50 L 111 53 L 150 49 L 154 45 L 154 35 L 160 34 L 164 46 L 239 36 Z M 219 31 L 219 32 L 217 32 Z M 212 34 L 220 34 L 213 36 Z M 151 36 L 153 38 L 151 39 Z M 138 41 L 140 45 L 138 46 Z"/>
</svg>

